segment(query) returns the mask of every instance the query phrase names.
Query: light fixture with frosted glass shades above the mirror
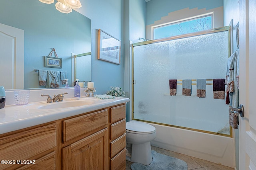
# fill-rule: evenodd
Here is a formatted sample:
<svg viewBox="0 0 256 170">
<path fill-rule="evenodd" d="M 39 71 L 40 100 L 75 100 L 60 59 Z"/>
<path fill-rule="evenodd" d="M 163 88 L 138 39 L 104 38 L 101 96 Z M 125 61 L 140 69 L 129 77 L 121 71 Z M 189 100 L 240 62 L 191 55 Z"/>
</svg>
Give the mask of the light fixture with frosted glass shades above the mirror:
<svg viewBox="0 0 256 170">
<path fill-rule="evenodd" d="M 39 0 L 45 4 L 52 4 L 54 0 Z M 70 13 L 72 12 L 73 8 L 80 8 L 81 2 L 80 0 L 57 0 L 58 2 L 55 4 L 56 10 L 62 13 Z"/>
</svg>

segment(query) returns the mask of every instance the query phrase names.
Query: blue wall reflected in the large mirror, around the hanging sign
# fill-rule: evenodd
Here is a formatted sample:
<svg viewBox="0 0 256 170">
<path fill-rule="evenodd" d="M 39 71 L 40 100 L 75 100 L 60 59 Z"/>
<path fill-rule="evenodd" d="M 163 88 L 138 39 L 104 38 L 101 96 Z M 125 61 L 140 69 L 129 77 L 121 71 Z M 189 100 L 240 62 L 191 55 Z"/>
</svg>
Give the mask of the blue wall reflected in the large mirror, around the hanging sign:
<svg viewBox="0 0 256 170">
<path fill-rule="evenodd" d="M 4 16 L 0 17 L 0 23 L 24 30 L 24 88 L 46 87 L 39 86 L 38 72 L 34 69 L 66 71 L 72 86 L 72 53 L 91 52 L 91 20 L 74 10 L 69 14 L 61 13 L 55 4 L 39 0 L 0 2 L 0 16 Z M 45 67 L 44 56 L 48 56 L 52 48 L 62 59 L 62 68 Z"/>
</svg>

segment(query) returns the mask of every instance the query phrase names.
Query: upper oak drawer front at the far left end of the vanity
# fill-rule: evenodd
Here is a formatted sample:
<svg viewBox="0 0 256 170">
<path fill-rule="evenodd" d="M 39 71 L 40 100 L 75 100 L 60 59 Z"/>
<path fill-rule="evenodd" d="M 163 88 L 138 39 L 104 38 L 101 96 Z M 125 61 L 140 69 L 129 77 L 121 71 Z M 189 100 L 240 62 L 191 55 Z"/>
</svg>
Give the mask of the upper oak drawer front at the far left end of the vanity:
<svg viewBox="0 0 256 170">
<path fill-rule="evenodd" d="M 56 147 L 56 123 L 0 138 L 2 160 L 31 160 L 35 155 Z M 6 169 L 11 164 L 2 164 Z"/>
</svg>

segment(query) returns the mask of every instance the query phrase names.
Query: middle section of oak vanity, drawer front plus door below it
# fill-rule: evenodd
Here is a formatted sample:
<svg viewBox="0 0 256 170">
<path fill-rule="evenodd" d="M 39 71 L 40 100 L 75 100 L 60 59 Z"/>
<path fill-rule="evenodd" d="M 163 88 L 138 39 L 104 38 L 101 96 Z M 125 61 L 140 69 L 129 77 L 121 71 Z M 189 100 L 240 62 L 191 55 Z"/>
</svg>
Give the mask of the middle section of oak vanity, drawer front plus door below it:
<svg viewBox="0 0 256 170">
<path fill-rule="evenodd" d="M 79 139 L 62 149 L 63 170 L 108 170 L 108 109 L 62 121 L 63 142 Z"/>
</svg>

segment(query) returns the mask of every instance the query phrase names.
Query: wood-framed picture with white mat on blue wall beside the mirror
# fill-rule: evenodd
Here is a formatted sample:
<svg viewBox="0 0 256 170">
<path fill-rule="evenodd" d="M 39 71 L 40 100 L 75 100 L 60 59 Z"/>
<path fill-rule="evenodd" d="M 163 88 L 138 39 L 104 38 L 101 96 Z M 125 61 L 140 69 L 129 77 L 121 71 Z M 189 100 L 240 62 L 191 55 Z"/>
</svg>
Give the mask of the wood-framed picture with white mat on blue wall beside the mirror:
<svg viewBox="0 0 256 170">
<path fill-rule="evenodd" d="M 98 59 L 120 64 L 121 41 L 99 29 Z"/>
</svg>

